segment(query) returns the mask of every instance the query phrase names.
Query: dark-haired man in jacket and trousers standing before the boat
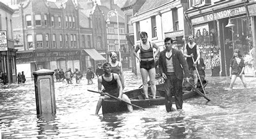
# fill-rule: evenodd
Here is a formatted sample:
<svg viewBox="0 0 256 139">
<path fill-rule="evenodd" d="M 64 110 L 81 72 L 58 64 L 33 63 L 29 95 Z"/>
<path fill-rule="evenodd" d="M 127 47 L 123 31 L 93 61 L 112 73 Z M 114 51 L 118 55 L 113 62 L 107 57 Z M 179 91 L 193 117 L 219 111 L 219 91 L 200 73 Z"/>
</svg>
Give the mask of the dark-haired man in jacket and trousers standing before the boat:
<svg viewBox="0 0 256 139">
<path fill-rule="evenodd" d="M 189 81 L 189 72 L 183 53 L 176 48 L 172 48 L 172 39 L 165 38 L 164 43 L 165 50 L 160 52 L 159 56 L 159 71 L 165 79 L 165 108 L 167 112 L 171 112 L 172 96 L 175 98 L 176 108 L 182 109 L 182 82 L 184 77 L 185 81 Z"/>
</svg>

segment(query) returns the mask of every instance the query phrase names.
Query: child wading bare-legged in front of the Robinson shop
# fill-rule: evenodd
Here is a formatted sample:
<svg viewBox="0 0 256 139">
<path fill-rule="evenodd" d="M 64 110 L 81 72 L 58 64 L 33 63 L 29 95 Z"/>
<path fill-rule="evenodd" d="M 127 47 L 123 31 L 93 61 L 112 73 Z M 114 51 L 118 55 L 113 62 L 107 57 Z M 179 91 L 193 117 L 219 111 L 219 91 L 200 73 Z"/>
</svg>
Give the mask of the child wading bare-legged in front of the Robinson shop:
<svg viewBox="0 0 256 139">
<path fill-rule="evenodd" d="M 235 49 L 233 57 L 230 60 L 231 83 L 230 83 L 230 88 L 227 89 L 228 91 L 232 91 L 235 79 L 237 79 L 237 77 L 240 77 L 242 84 L 246 88 L 244 71 L 245 71 L 244 59 L 242 59 L 242 55 L 240 54 L 240 51 L 238 49 Z"/>
</svg>

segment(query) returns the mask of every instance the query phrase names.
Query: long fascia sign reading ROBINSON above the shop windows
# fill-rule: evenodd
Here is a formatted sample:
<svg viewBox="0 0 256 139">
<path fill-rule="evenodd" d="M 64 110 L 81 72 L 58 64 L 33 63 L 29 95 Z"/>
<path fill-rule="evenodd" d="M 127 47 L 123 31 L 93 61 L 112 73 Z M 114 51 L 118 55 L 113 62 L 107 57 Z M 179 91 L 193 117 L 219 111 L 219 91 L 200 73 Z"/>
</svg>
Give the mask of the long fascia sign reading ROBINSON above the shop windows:
<svg viewBox="0 0 256 139">
<path fill-rule="evenodd" d="M 224 10 L 224 11 L 220 11 L 220 12 L 216 12 L 216 13 L 211 13 L 211 14 L 208 14 L 208 15 L 205 15 L 205 16 L 193 18 L 193 19 L 191 19 L 191 23 L 192 23 L 192 25 L 195 25 L 195 24 L 210 22 L 212 20 L 226 18 L 226 17 L 230 16 L 231 11 L 232 11 L 231 16 L 236 16 L 236 15 L 246 13 L 245 7 L 241 6 L 241 7 L 238 7 L 238 8 L 228 9 L 228 10 Z"/>
</svg>

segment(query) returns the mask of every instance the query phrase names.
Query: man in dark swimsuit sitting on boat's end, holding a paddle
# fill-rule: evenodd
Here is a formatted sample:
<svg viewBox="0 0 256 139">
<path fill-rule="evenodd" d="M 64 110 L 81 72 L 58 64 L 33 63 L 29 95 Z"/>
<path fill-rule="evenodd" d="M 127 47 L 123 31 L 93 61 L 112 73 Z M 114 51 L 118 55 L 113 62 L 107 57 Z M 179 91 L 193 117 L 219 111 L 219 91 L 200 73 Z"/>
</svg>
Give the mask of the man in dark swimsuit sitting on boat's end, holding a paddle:
<svg viewBox="0 0 256 139">
<path fill-rule="evenodd" d="M 122 84 L 119 75 L 116 73 L 111 73 L 111 65 L 109 62 L 105 62 L 103 64 L 103 70 L 104 74 L 98 78 L 98 92 L 101 92 L 102 94 L 100 95 L 99 101 L 97 103 L 95 112 L 96 115 L 99 113 L 100 107 L 102 107 L 102 101 L 104 99 L 110 99 L 110 96 L 104 95 L 104 93 L 102 92 L 102 85 L 105 88 L 105 93 L 116 96 L 119 101 L 123 100 L 131 103 L 131 100 L 128 98 L 128 96 L 123 94 Z M 133 110 L 131 105 L 127 105 L 127 109 L 130 112 Z"/>
</svg>

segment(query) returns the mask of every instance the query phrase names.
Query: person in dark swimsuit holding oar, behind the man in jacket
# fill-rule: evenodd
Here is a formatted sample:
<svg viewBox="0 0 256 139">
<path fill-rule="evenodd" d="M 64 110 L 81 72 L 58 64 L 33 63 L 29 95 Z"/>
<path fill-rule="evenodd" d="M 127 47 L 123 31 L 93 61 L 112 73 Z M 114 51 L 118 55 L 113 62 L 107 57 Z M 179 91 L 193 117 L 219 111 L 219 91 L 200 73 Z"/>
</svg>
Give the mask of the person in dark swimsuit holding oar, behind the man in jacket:
<svg viewBox="0 0 256 139">
<path fill-rule="evenodd" d="M 186 44 L 186 47 L 184 49 L 184 56 L 187 58 L 187 64 L 188 64 L 188 70 L 190 70 L 190 73 L 194 76 L 194 85 L 197 87 L 198 77 L 197 77 L 197 62 L 200 59 L 200 50 L 196 43 L 194 43 L 194 36 L 190 35 L 188 36 L 189 42 Z M 195 61 L 193 61 L 193 59 Z"/>
</svg>

